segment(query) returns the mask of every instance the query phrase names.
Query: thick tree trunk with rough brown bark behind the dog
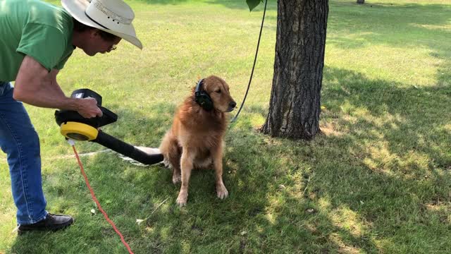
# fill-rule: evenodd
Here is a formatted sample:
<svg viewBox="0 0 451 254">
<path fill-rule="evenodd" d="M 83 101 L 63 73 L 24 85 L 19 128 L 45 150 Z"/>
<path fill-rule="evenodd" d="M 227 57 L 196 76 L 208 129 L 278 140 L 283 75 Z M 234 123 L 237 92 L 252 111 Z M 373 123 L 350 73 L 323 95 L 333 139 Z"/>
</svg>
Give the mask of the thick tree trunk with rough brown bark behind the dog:
<svg viewBox="0 0 451 254">
<path fill-rule="evenodd" d="M 328 0 L 278 0 L 276 58 L 263 133 L 311 139 L 319 130 Z"/>
</svg>

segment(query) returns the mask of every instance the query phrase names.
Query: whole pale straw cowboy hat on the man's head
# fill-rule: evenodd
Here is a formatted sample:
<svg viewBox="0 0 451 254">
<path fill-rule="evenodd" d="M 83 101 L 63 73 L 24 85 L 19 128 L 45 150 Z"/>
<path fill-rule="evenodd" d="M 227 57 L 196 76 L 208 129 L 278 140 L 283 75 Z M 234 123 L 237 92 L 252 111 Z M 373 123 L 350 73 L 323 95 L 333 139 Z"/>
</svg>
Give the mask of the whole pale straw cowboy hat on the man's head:
<svg viewBox="0 0 451 254">
<path fill-rule="evenodd" d="M 123 38 L 142 49 L 136 37 L 132 8 L 122 0 L 61 0 L 63 7 L 80 23 Z"/>
</svg>

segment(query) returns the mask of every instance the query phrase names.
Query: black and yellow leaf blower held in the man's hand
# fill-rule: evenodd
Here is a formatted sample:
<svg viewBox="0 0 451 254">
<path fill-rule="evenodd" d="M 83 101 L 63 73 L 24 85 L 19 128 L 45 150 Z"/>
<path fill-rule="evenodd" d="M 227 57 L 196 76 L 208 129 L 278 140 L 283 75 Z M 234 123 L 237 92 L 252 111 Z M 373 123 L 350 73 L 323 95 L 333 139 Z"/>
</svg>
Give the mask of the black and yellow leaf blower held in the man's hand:
<svg viewBox="0 0 451 254">
<path fill-rule="evenodd" d="M 105 107 L 101 107 L 101 96 L 89 89 L 78 89 L 70 95 L 72 98 L 92 97 L 97 100 L 97 106 L 103 115 L 94 118 L 84 118 L 77 111 L 56 110 L 55 119 L 63 136 L 73 140 L 91 141 L 108 147 L 109 149 L 125 155 L 142 164 L 156 164 L 163 160 L 163 155 L 149 155 L 137 147 L 118 140 L 101 131 L 99 128 L 118 120 L 118 116 Z"/>
</svg>

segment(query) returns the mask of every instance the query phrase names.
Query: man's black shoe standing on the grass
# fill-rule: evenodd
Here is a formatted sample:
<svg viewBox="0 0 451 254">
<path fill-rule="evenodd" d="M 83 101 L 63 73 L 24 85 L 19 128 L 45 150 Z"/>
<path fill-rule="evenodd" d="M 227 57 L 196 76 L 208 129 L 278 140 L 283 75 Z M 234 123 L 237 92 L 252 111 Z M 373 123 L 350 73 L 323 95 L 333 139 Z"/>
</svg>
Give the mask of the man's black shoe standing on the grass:
<svg viewBox="0 0 451 254">
<path fill-rule="evenodd" d="M 22 224 L 18 227 L 18 234 L 23 234 L 26 231 L 56 231 L 64 229 L 66 226 L 73 224 L 73 217 L 68 215 L 47 214 L 45 219 L 34 224 Z"/>
</svg>

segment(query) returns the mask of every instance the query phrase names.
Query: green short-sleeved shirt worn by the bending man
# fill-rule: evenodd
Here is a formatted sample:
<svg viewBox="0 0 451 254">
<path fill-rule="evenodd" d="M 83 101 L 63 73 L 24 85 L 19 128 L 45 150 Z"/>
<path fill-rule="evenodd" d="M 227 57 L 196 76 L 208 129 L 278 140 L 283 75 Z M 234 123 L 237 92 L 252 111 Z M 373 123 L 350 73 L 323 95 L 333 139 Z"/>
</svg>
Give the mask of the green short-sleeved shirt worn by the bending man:
<svg viewBox="0 0 451 254">
<path fill-rule="evenodd" d="M 0 80 L 16 80 L 25 55 L 47 71 L 61 70 L 75 49 L 72 33 L 72 16 L 61 7 L 38 0 L 0 0 Z"/>
</svg>

